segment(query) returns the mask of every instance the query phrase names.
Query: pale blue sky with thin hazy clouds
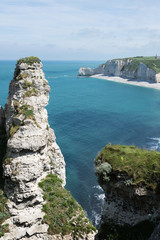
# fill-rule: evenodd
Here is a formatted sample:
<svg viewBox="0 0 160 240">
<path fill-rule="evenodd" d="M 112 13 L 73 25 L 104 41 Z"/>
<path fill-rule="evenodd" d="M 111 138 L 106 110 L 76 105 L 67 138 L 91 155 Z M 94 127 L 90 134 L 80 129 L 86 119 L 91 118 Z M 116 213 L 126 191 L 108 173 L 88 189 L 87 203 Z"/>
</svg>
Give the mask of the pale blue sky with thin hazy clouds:
<svg viewBox="0 0 160 240">
<path fill-rule="evenodd" d="M 0 0 L 0 59 L 160 55 L 159 0 Z"/>
</svg>

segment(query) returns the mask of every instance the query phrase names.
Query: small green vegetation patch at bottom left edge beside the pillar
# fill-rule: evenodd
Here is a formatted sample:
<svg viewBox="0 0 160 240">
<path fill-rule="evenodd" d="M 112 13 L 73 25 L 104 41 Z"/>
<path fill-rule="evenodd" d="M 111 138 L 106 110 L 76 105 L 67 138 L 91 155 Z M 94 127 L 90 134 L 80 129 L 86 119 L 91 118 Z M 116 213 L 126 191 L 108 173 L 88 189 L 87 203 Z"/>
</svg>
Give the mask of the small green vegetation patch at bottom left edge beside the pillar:
<svg viewBox="0 0 160 240">
<path fill-rule="evenodd" d="M 0 237 L 4 236 L 4 233 L 9 231 L 7 224 L 2 225 L 3 222 L 10 217 L 6 202 L 7 199 L 3 195 L 3 191 L 0 190 Z"/>
</svg>

